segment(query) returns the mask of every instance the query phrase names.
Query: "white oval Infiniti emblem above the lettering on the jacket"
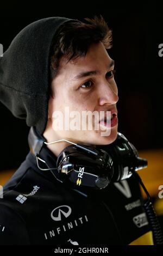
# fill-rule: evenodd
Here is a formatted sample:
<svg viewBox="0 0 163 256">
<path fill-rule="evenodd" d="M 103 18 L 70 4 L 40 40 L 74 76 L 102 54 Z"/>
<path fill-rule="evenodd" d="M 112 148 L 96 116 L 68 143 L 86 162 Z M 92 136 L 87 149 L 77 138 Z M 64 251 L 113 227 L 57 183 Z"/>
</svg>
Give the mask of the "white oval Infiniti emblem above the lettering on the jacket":
<svg viewBox="0 0 163 256">
<path fill-rule="evenodd" d="M 61 221 L 61 214 L 67 218 L 71 214 L 71 208 L 68 205 L 61 205 L 55 208 L 51 212 L 51 218 L 53 221 Z"/>
</svg>

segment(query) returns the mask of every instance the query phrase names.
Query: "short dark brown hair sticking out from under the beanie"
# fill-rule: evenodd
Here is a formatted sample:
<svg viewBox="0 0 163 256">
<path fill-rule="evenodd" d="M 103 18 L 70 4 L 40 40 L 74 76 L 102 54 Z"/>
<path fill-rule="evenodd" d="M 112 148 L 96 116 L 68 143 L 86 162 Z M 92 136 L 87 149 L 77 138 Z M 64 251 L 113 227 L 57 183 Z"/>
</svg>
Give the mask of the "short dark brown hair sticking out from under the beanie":
<svg viewBox="0 0 163 256">
<path fill-rule="evenodd" d="M 71 20 L 60 27 L 51 50 L 51 79 L 55 77 L 62 56 L 71 59 L 85 56 L 91 44 L 102 42 L 111 48 L 112 32 L 102 16 L 85 18 L 84 22 Z"/>
</svg>

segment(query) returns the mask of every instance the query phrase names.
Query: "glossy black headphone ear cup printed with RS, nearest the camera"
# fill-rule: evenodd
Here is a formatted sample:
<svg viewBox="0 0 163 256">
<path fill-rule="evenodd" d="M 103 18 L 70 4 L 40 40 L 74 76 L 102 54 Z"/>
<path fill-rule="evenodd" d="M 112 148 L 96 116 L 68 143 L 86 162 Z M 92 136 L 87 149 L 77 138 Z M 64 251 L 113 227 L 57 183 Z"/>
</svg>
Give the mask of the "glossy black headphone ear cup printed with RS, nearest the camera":
<svg viewBox="0 0 163 256">
<path fill-rule="evenodd" d="M 62 181 L 67 180 L 75 186 L 106 187 L 112 176 L 112 160 L 104 150 L 96 149 L 96 153 L 91 154 L 76 145 L 62 150 L 57 159 Z"/>
</svg>

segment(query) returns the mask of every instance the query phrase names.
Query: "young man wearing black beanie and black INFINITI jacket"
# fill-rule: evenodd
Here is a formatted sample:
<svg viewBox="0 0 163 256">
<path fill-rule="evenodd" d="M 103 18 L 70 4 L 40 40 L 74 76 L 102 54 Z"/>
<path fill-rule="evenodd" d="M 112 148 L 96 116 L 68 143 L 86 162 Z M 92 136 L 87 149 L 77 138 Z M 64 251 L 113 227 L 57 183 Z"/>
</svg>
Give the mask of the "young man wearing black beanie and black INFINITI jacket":
<svg viewBox="0 0 163 256">
<path fill-rule="evenodd" d="M 51 17 L 24 28 L 1 58 L 1 101 L 33 127 L 30 153 L 4 186 L 1 244 L 152 244 L 133 177 L 102 190 L 74 189 L 56 171 L 70 142 L 95 149 L 116 140 L 118 90 L 110 47 L 111 31 L 102 17 Z M 66 107 L 79 114 L 109 111 L 110 117 L 94 118 L 90 130 L 59 129 L 55 121 L 61 118 L 54 113 L 65 114 Z M 107 136 L 101 136 L 104 130 Z M 41 138 L 47 144 L 40 147 Z"/>
</svg>

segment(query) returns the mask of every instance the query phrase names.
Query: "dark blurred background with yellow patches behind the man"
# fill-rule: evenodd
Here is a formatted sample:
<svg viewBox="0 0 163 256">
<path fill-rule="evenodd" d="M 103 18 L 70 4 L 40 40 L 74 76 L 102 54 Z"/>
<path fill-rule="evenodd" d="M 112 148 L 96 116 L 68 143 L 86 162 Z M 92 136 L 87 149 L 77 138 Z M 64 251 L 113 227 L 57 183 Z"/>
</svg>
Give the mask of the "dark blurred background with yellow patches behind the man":
<svg viewBox="0 0 163 256">
<path fill-rule="evenodd" d="M 163 185 L 162 84 L 163 44 L 162 14 L 156 3 L 111 3 L 111 1 L 5 1 L 0 5 L 0 44 L 4 51 L 18 32 L 29 23 L 51 16 L 74 19 L 101 14 L 113 31 L 110 56 L 115 60 L 119 102 L 118 131 L 122 132 L 148 160 L 148 168 L 139 174 L 151 193 L 163 226 L 163 199 L 158 198 Z M 0 184 L 3 185 L 28 154 L 29 127 L 0 103 L 1 161 Z M 162 193 L 163 195 L 163 193 Z"/>
</svg>

